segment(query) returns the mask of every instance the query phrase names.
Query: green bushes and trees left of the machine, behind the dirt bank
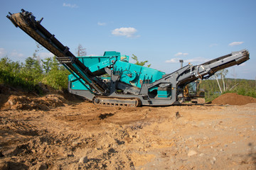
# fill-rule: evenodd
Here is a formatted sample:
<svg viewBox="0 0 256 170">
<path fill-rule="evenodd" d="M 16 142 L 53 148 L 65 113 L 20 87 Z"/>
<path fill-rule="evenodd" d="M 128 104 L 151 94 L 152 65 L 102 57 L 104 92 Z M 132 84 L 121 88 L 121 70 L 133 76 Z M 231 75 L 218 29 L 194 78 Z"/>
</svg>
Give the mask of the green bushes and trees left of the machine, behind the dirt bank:
<svg viewBox="0 0 256 170">
<path fill-rule="evenodd" d="M 0 60 L 0 83 L 33 91 L 42 94 L 40 84 L 46 84 L 56 90 L 68 89 L 68 72 L 58 62 L 56 56 L 46 57 L 41 60 L 38 52 L 41 45 L 36 43 L 36 50 L 32 57 L 27 57 L 25 62 L 14 62 L 9 57 Z M 77 56 L 85 56 L 86 51 L 82 45 L 76 49 Z"/>
</svg>

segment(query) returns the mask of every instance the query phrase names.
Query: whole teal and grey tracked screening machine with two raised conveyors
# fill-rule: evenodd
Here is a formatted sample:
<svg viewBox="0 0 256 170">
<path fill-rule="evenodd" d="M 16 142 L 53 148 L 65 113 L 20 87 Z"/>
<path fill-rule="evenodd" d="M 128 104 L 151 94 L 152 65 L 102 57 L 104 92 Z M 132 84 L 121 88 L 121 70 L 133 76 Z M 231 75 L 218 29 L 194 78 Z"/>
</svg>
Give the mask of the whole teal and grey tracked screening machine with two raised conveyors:
<svg viewBox="0 0 256 170">
<path fill-rule="evenodd" d="M 100 57 L 75 57 L 55 35 L 41 26 L 41 21 L 28 11 L 9 13 L 14 26 L 46 47 L 71 73 L 70 93 L 83 96 L 96 105 L 170 106 L 184 101 L 185 86 L 197 79 L 208 79 L 220 69 L 249 60 L 249 52 L 241 50 L 203 64 L 188 64 L 166 74 L 156 69 L 129 63 L 129 56 L 108 51 Z"/>
</svg>

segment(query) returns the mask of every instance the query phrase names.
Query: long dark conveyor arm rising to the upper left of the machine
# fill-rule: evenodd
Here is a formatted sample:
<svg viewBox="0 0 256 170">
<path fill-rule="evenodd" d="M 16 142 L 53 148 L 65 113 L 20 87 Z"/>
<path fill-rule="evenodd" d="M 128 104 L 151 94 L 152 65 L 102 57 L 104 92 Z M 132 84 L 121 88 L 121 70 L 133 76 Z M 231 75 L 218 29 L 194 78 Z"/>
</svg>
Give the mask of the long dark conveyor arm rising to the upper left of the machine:
<svg viewBox="0 0 256 170">
<path fill-rule="evenodd" d="M 6 16 L 14 23 L 14 26 L 21 28 L 25 33 L 27 33 L 31 38 L 36 40 L 36 42 L 46 47 L 47 50 L 53 53 L 53 55 L 57 56 L 57 60 L 63 64 L 65 67 L 68 67 L 70 71 L 74 72 L 78 75 L 78 77 L 82 78 L 87 84 L 90 85 L 90 88 L 102 94 L 105 89 L 102 87 L 104 84 L 100 82 L 97 77 L 95 77 L 90 69 L 88 69 L 80 60 L 78 60 L 75 55 L 70 52 L 67 46 L 64 46 L 61 42 L 59 42 L 55 35 L 51 34 L 41 26 L 41 21 L 36 21 L 36 17 L 33 16 L 32 13 L 21 9 L 21 13 L 9 13 L 10 16 Z M 64 57 L 64 58 L 63 58 Z M 66 62 L 62 62 L 63 60 Z M 69 59 L 69 60 L 67 60 Z M 78 67 L 75 68 L 74 67 Z M 86 75 L 86 76 L 83 76 Z"/>
</svg>

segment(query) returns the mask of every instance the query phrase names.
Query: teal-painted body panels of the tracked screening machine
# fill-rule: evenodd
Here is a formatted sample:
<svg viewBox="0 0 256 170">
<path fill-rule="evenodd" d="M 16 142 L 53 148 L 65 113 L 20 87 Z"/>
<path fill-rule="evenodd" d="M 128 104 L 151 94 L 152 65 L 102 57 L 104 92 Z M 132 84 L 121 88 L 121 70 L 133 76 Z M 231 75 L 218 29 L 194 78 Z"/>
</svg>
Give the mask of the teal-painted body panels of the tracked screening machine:
<svg viewBox="0 0 256 170">
<path fill-rule="evenodd" d="M 137 86 L 138 88 L 141 88 L 142 84 L 151 84 L 154 81 L 161 79 L 165 74 L 164 72 L 160 72 L 156 69 L 129 63 L 129 56 L 120 55 L 120 52 L 115 51 L 105 52 L 104 56 L 99 57 L 79 57 L 78 60 L 85 64 L 92 73 L 97 72 L 97 74 L 95 74 L 97 76 L 105 74 L 105 67 L 114 64 L 113 71 L 115 75 L 119 75 L 119 81 L 131 84 L 132 86 Z M 78 68 L 76 67 L 76 69 Z M 86 75 L 83 76 L 85 79 L 88 79 Z M 87 90 L 89 86 L 84 84 L 82 79 L 78 78 L 79 77 L 76 74 L 70 75 L 69 81 L 72 84 L 71 88 Z M 155 89 L 157 89 L 157 87 L 152 87 L 149 91 L 153 91 Z M 159 97 L 169 97 L 171 94 L 169 92 L 161 91 L 158 95 Z"/>
</svg>

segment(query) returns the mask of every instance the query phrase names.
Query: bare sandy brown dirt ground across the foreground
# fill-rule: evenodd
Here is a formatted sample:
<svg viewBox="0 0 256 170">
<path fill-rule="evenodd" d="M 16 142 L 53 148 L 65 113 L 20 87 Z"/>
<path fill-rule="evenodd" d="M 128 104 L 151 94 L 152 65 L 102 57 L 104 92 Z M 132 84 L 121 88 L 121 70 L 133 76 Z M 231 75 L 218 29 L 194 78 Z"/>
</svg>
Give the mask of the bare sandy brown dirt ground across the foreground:
<svg viewBox="0 0 256 170">
<path fill-rule="evenodd" d="M 98 107 L 2 91 L 0 169 L 256 169 L 256 103 Z"/>
</svg>

